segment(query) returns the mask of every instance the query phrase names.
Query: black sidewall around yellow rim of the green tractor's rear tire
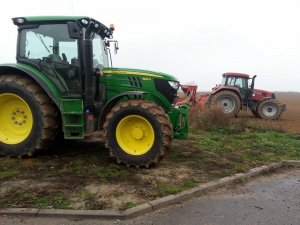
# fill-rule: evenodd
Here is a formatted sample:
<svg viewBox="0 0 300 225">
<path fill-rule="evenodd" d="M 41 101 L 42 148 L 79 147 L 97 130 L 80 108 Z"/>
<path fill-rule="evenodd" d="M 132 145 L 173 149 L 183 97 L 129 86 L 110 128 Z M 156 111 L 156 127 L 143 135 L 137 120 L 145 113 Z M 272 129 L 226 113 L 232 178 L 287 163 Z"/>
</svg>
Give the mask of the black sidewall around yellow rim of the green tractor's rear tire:
<svg viewBox="0 0 300 225">
<path fill-rule="evenodd" d="M 39 102 L 37 101 L 34 93 L 27 90 L 25 86 L 15 82 L 1 82 L 0 94 L 4 93 L 15 94 L 27 103 L 32 113 L 33 125 L 29 136 L 21 143 L 5 144 L 0 142 L 0 154 L 11 156 L 30 154 L 31 149 L 36 146 L 37 142 L 42 137 L 43 115 Z"/>
</svg>

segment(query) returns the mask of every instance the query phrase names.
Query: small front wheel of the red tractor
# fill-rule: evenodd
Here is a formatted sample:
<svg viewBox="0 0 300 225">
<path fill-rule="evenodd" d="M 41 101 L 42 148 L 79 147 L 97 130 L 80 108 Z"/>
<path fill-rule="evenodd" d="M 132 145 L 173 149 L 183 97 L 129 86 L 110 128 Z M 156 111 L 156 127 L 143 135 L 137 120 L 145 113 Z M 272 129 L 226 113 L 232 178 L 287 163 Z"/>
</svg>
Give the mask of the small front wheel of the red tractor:
<svg viewBox="0 0 300 225">
<path fill-rule="evenodd" d="M 275 120 L 282 114 L 280 104 L 274 99 L 265 99 L 257 107 L 257 113 L 262 119 Z"/>
</svg>

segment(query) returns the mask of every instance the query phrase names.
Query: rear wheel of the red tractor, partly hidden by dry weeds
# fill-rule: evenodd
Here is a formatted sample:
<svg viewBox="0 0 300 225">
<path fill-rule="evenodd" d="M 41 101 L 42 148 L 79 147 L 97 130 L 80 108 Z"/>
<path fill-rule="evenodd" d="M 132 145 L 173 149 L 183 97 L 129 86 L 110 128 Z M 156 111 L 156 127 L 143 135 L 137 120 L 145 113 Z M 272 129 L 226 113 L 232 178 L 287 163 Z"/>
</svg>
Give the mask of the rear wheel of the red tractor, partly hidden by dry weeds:
<svg viewBox="0 0 300 225">
<path fill-rule="evenodd" d="M 230 117 L 236 116 L 241 108 L 239 96 L 228 90 L 219 91 L 212 95 L 210 104 L 221 106 L 224 110 L 224 113 Z"/>
</svg>

